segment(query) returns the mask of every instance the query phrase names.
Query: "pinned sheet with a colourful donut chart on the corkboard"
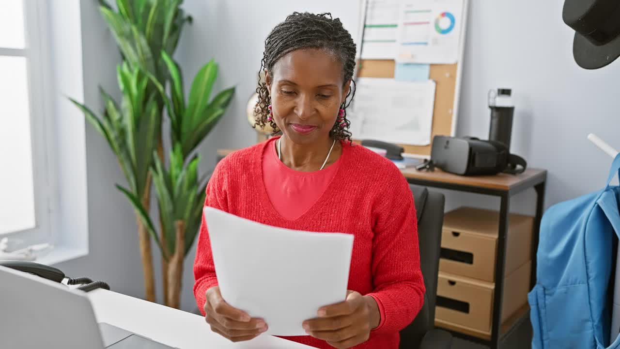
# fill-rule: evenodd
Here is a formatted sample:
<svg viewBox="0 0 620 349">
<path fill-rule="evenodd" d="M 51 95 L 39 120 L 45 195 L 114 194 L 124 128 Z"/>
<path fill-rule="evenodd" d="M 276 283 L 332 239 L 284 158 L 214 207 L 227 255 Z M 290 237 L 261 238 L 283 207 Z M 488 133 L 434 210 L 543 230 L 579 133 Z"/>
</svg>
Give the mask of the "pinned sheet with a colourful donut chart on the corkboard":
<svg viewBox="0 0 620 349">
<path fill-rule="evenodd" d="M 396 60 L 453 64 L 458 61 L 463 0 L 403 0 Z"/>
</svg>

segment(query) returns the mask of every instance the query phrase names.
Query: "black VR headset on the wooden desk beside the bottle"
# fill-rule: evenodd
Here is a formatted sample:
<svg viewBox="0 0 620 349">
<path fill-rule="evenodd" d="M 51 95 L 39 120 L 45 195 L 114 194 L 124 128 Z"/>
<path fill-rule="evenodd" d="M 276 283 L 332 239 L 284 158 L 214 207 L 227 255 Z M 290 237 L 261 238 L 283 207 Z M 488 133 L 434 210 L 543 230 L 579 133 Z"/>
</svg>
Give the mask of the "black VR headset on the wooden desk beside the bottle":
<svg viewBox="0 0 620 349">
<path fill-rule="evenodd" d="M 500 172 L 518 174 L 523 173 L 527 166 L 525 159 L 511 154 L 504 143 L 474 137 L 435 136 L 431 161 L 443 171 L 465 176 Z"/>
</svg>

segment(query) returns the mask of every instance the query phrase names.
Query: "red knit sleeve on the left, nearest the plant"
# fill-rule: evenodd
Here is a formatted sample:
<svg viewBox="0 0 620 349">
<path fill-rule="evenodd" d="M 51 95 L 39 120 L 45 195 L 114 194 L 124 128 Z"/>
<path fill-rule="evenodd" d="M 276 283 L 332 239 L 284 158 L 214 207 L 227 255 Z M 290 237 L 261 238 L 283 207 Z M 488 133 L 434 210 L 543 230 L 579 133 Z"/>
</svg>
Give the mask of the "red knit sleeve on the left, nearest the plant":
<svg viewBox="0 0 620 349">
<path fill-rule="evenodd" d="M 225 189 L 223 181 L 222 170 L 224 161 L 218 163 L 213 175 L 206 186 L 205 205 L 215 207 L 222 211 L 228 211 L 228 206 L 225 199 Z M 198 304 L 198 309 L 205 315 L 206 290 L 213 286 L 218 286 L 218 279 L 215 275 L 215 266 L 213 265 L 213 255 L 211 253 L 211 242 L 209 240 L 209 233 L 206 229 L 205 215 L 202 217 L 202 224 L 200 225 L 200 232 L 198 235 L 198 243 L 196 248 L 196 258 L 194 260 L 194 286 L 193 292 Z"/>
</svg>

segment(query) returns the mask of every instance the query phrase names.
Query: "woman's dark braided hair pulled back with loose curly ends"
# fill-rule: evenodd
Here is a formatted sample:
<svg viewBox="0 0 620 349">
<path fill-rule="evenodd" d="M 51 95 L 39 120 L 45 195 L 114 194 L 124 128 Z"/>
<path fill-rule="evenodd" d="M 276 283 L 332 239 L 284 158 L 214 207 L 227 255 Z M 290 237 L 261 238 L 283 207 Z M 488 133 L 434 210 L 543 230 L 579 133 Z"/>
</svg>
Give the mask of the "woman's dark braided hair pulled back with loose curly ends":
<svg viewBox="0 0 620 349">
<path fill-rule="evenodd" d="M 279 132 L 275 121 L 273 119 L 268 120 L 268 106 L 271 104 L 271 99 L 267 83 L 264 79 L 261 81 L 260 75 L 263 70 L 267 70 L 272 75 L 273 66 L 280 58 L 300 48 L 321 48 L 332 53 L 342 63 L 344 84 L 352 80 L 356 47 L 351 34 L 342 27 L 340 19 L 332 19 L 330 13 L 293 12 L 286 17 L 284 22 L 276 25 L 265 39 L 265 52 L 263 52 L 263 59 L 260 61 L 259 87 L 256 89 L 259 102 L 254 109 L 256 120 L 254 127 L 259 126 L 262 129 L 268 122 L 274 130 L 274 134 Z M 345 110 L 344 122 L 341 121 L 342 119 L 338 120 L 329 132 L 330 137 L 337 140 L 351 141 L 351 132 L 348 131 L 350 121 L 347 120 L 347 107 L 355 96 L 355 81 L 352 82 L 353 88 L 349 89 L 345 102 L 340 106 Z"/>
</svg>

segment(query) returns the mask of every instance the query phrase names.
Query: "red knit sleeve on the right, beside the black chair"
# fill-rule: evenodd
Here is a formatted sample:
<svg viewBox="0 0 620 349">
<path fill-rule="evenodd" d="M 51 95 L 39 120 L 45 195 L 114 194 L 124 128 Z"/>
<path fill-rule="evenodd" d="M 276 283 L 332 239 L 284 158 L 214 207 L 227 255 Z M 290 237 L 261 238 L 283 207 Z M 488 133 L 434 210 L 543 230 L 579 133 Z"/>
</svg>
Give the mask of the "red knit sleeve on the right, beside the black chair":
<svg viewBox="0 0 620 349">
<path fill-rule="evenodd" d="M 409 184 L 398 173 L 393 195 L 385 196 L 374 227 L 372 296 L 379 306 L 377 333 L 398 332 L 422 309 L 424 280 L 420 270 L 417 222 Z"/>
</svg>

